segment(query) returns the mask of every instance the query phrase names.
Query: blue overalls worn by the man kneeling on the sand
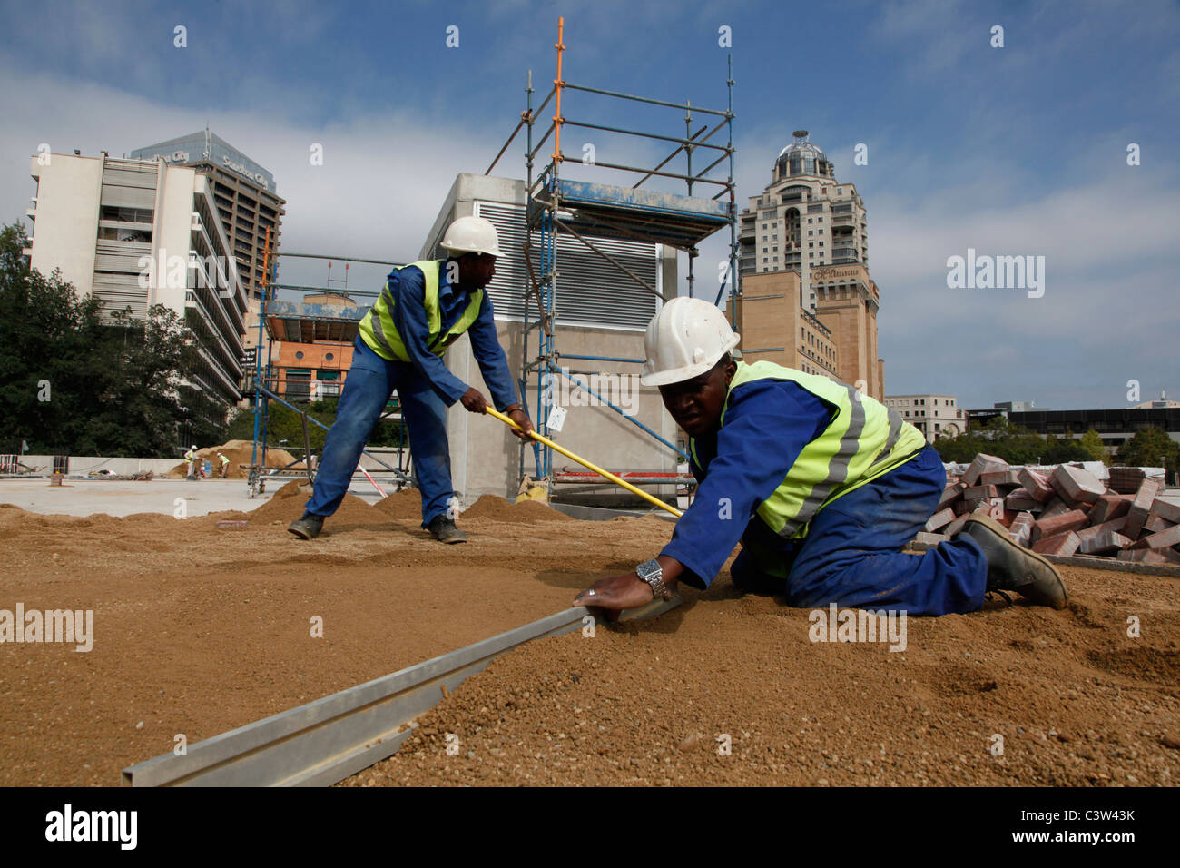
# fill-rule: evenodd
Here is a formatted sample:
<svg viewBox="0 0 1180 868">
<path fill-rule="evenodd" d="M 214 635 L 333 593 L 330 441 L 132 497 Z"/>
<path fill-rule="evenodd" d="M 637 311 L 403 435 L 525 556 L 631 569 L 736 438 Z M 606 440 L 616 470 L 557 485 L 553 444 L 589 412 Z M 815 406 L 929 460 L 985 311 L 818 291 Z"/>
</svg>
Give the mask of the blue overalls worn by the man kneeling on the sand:
<svg viewBox="0 0 1180 868">
<path fill-rule="evenodd" d="M 802 540 L 778 536 L 755 515 L 828 418 L 828 407 L 794 383 L 733 390 L 720 431 L 696 440 L 703 465 L 691 464 L 696 497 L 661 552 L 689 570 L 681 581 L 707 587 L 740 540 L 734 583 L 781 593 L 791 606 L 835 602 L 910 615 L 979 608 L 988 568 L 974 540 L 959 536 L 920 555 L 900 550 L 945 487 L 931 446 L 820 509 Z"/>
</svg>

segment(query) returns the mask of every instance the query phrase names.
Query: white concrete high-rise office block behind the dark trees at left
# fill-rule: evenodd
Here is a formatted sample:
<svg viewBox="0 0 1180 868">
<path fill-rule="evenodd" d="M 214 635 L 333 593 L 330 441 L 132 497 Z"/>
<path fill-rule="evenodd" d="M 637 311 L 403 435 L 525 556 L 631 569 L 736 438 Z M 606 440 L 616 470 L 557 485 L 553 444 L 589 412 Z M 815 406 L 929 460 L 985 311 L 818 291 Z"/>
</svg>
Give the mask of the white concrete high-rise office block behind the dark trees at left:
<svg viewBox="0 0 1180 868">
<path fill-rule="evenodd" d="M 33 236 L 25 253 L 42 274 L 60 269 L 105 313 L 145 318 L 162 304 L 192 329 L 202 365 L 194 385 L 238 399 L 247 296 L 215 216 L 212 180 L 164 161 L 40 154 Z"/>
</svg>

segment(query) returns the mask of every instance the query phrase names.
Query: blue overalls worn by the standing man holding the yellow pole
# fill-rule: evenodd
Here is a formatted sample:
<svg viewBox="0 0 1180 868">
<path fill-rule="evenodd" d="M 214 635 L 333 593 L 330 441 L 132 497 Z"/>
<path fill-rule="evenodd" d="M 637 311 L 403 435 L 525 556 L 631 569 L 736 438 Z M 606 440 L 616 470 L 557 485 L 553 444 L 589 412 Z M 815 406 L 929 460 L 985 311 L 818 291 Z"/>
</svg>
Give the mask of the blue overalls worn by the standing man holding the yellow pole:
<svg viewBox="0 0 1180 868">
<path fill-rule="evenodd" d="M 467 306 L 465 291 L 451 286 L 445 267 L 439 274 L 439 308 L 442 332 Z M 446 513 L 454 495 L 451 487 L 451 450 L 446 436 L 446 409 L 467 385 L 447 370 L 442 359 L 426 348 L 430 329 L 422 305 L 425 287 L 417 268 L 394 270 L 388 278 L 394 296 L 393 320 L 412 361 L 386 361 L 358 335 L 353 364 L 336 407 L 336 420 L 323 444 L 315 475 L 315 490 L 304 507 L 314 515 L 332 515 L 348 491 L 353 471 L 386 403 L 393 392 L 401 402 L 401 416 L 409 435 L 414 477 L 422 496 L 422 527 Z M 507 359 L 496 335 L 492 302 L 484 294 L 479 316 L 467 329 L 472 354 L 479 364 L 492 402 L 503 411 L 517 400 Z"/>
</svg>

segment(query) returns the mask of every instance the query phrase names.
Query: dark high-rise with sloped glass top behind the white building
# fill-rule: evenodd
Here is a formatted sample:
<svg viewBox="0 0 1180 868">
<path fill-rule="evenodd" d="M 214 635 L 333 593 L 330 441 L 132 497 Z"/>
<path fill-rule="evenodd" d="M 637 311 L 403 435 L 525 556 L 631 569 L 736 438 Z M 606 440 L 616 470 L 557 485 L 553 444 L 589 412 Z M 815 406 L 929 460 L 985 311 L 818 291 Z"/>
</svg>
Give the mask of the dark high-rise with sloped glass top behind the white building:
<svg viewBox="0 0 1180 868">
<path fill-rule="evenodd" d="M 189 165 L 208 175 L 217 216 L 234 248 L 238 275 L 250 298 L 262 298 L 263 252 L 270 229 L 271 262 L 278 249 L 284 200 L 275 176 L 208 129 L 131 151 L 135 159 L 159 157 L 169 165 Z"/>
</svg>

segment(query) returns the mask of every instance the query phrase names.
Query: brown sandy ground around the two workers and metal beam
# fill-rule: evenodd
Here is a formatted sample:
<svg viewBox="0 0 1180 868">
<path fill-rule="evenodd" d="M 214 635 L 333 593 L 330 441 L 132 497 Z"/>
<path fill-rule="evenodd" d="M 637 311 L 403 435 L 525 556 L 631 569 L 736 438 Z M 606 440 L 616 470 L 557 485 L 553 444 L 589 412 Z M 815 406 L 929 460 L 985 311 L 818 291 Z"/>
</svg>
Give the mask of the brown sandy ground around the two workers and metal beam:
<svg viewBox="0 0 1180 868">
<path fill-rule="evenodd" d="M 112 502 L 234 484 L 227 496 L 253 508 L 194 504 L 184 520 L 171 498 L 122 517 L 46 515 L 71 511 L 71 490 L 19 484 L 44 488 L 25 502 L 35 513 L 0 504 L 0 609 L 92 609 L 94 638 L 90 652 L 0 644 L 2 785 L 118 784 L 177 736 L 191 745 L 551 614 L 673 529 L 484 497 L 459 521 L 470 542 L 441 546 L 406 491 L 349 496 L 302 542 L 286 531 L 297 483 L 266 502 L 240 481 L 85 483 Z M 657 620 L 494 660 L 398 755 L 343 783 L 1180 783 L 1180 579 L 1062 573 L 1068 609 L 909 619 L 891 652 L 813 642 L 807 611 L 743 596 L 723 570 Z"/>
</svg>

